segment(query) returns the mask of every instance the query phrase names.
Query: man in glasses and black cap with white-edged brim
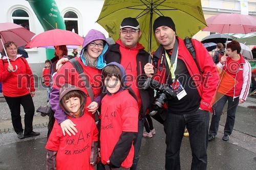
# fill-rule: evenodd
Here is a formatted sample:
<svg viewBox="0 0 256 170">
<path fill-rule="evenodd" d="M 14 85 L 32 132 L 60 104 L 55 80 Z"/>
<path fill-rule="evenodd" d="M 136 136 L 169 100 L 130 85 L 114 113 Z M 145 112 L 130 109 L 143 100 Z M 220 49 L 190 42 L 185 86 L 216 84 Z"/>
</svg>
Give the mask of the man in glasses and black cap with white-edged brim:
<svg viewBox="0 0 256 170">
<path fill-rule="evenodd" d="M 143 67 L 148 62 L 148 53 L 138 42 L 141 34 L 140 25 L 136 18 L 124 18 L 120 25 L 120 39 L 110 46 L 110 51 L 105 56 L 106 64 L 117 62 L 124 67 L 127 76 L 126 85 L 131 86 L 138 99 L 139 124 L 137 138 L 134 141 L 135 154 L 131 170 L 136 169 L 139 160 L 145 112 L 150 104 L 148 92 L 154 94 L 151 88 L 148 90 L 141 88 L 144 84 L 143 80 L 146 79 Z"/>
</svg>

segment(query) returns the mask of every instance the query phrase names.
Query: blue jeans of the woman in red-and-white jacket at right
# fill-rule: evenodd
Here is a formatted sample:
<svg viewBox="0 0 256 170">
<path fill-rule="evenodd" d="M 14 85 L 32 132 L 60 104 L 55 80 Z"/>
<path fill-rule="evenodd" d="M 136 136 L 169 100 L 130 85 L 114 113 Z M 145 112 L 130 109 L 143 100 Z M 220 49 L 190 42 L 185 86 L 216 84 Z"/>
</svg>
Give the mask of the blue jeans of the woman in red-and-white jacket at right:
<svg viewBox="0 0 256 170">
<path fill-rule="evenodd" d="M 218 133 L 219 129 L 219 124 L 220 124 L 220 119 L 221 119 L 221 114 L 223 112 L 223 108 L 228 101 L 227 104 L 227 119 L 226 119 L 226 124 L 224 128 L 224 134 L 226 135 L 231 135 L 233 127 L 234 127 L 234 119 L 236 118 L 236 112 L 238 108 L 238 103 L 239 103 L 239 98 L 234 98 L 232 96 L 227 96 L 221 93 L 217 93 L 217 97 L 219 95 L 222 95 L 221 98 L 219 99 L 214 107 L 215 107 L 215 114 L 212 114 L 211 117 L 211 123 L 210 123 L 210 129 L 209 129 L 209 134 L 216 136 Z"/>
</svg>

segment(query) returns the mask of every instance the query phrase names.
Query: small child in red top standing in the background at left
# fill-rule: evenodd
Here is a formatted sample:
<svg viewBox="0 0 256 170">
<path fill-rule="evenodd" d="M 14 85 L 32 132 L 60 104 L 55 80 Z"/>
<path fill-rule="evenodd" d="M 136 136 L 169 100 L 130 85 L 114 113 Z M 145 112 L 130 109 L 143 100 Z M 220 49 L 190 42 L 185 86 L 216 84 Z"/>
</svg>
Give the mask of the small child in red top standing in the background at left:
<svg viewBox="0 0 256 170">
<path fill-rule="evenodd" d="M 45 64 L 46 64 L 46 67 L 44 67 L 42 69 L 42 78 L 44 78 L 43 83 L 46 86 L 47 96 L 48 96 L 47 102 L 49 102 L 49 100 L 50 100 L 50 92 L 51 92 L 51 86 L 50 86 L 50 80 L 51 80 L 51 75 L 50 75 L 51 61 L 50 60 L 46 60 Z"/>
</svg>

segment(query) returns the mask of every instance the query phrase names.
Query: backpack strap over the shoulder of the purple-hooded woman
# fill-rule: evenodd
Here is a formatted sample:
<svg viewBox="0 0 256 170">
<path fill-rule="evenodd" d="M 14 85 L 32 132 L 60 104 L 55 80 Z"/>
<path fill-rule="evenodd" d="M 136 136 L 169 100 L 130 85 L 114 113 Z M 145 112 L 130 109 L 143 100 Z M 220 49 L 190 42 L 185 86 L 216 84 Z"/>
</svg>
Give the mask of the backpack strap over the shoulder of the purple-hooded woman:
<svg viewBox="0 0 256 170">
<path fill-rule="evenodd" d="M 94 100 L 93 90 L 92 90 L 92 88 L 90 86 L 89 80 L 86 77 L 86 74 L 84 74 L 84 72 L 83 72 L 83 68 L 82 68 L 81 64 L 75 58 L 70 59 L 69 62 L 71 62 L 71 64 L 76 69 L 78 74 L 83 77 L 82 80 L 83 80 L 83 82 L 86 85 L 86 89 L 87 89 L 87 92 L 88 92 L 88 94 L 90 96 L 91 101 L 93 101 Z M 99 113 L 96 112 L 95 113 L 95 123 L 98 124 L 98 122 L 99 122 Z"/>
</svg>

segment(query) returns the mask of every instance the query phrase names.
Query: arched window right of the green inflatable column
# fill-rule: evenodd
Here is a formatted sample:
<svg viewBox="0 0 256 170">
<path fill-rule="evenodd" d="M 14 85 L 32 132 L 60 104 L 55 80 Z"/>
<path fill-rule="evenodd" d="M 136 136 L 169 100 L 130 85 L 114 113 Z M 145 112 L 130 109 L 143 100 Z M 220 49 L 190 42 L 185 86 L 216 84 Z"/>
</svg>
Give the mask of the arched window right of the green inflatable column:
<svg viewBox="0 0 256 170">
<path fill-rule="evenodd" d="M 66 25 L 66 30 L 72 31 L 74 29 L 75 33 L 78 34 L 78 16 L 73 11 L 68 11 L 63 17 Z"/>
</svg>

